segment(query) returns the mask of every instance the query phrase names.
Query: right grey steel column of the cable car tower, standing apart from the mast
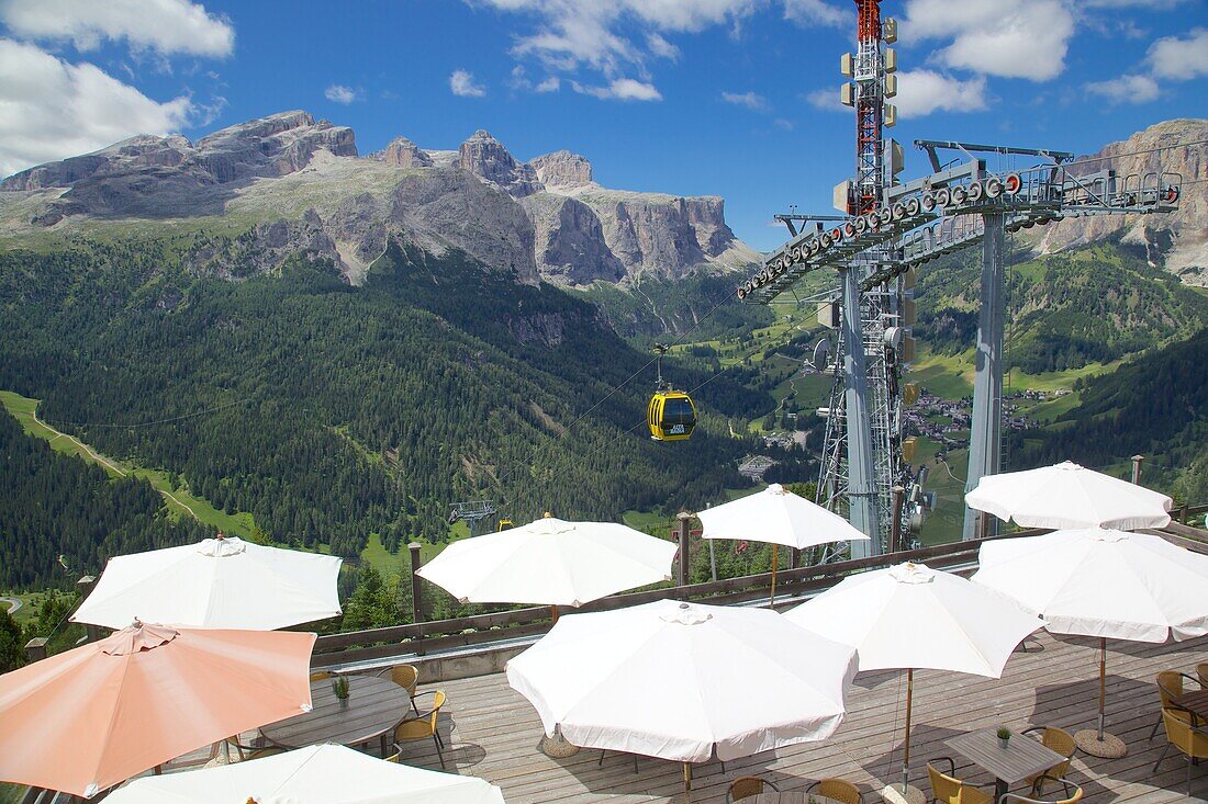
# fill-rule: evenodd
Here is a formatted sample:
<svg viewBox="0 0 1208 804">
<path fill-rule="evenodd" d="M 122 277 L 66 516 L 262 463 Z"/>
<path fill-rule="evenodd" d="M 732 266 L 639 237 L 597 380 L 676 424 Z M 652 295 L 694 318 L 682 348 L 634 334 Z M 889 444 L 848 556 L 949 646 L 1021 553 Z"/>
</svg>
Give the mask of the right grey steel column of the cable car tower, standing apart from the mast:
<svg viewBox="0 0 1208 804">
<path fill-rule="evenodd" d="M 981 311 L 977 319 L 977 365 L 974 378 L 972 429 L 969 433 L 969 471 L 965 494 L 977 488 L 986 474 L 998 474 L 1003 435 L 1003 325 L 1005 310 L 1004 262 L 1006 251 L 1005 216 L 982 216 Z M 989 536 L 978 534 L 980 512 L 965 508 L 963 538 Z"/>
</svg>

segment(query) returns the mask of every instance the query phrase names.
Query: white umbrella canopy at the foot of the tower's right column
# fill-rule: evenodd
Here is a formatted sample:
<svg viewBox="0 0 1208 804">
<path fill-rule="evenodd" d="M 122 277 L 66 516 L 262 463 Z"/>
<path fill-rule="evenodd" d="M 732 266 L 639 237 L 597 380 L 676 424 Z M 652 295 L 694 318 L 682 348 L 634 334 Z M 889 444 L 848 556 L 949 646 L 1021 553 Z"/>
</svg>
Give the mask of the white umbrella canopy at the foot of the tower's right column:
<svg viewBox="0 0 1208 804">
<path fill-rule="evenodd" d="M 1078 464 L 983 477 L 965 505 L 1024 528 L 1166 528 L 1171 497 Z"/>
</svg>

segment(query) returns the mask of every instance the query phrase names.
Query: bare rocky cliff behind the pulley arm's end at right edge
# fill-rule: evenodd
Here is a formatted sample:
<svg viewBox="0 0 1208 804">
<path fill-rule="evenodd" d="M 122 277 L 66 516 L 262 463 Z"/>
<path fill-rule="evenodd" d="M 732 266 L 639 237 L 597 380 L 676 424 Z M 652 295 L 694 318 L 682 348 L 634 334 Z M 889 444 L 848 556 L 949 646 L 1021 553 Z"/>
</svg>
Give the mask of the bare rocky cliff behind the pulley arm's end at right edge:
<svg viewBox="0 0 1208 804">
<path fill-rule="evenodd" d="M 1123 244 L 1143 247 L 1151 262 L 1165 262 L 1166 269 L 1183 281 L 1208 286 L 1208 187 L 1189 183 L 1208 170 L 1208 146 L 1180 145 L 1206 139 L 1208 120 L 1172 120 L 1113 142 L 1091 157 L 1080 157 L 1075 171 L 1111 168 L 1117 181 L 1158 170 L 1181 174 L 1185 186 L 1179 209 L 1160 215 L 1096 215 L 1050 223 L 1034 240 L 1035 250 L 1052 254 L 1117 237 Z"/>
</svg>

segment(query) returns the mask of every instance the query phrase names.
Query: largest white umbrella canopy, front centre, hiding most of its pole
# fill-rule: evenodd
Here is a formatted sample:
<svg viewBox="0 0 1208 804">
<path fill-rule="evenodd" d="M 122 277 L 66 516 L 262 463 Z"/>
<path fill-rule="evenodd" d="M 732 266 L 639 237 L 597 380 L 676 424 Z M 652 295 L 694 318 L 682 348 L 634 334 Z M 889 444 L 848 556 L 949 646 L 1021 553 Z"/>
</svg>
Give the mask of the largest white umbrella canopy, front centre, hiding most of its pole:
<svg viewBox="0 0 1208 804">
<path fill-rule="evenodd" d="M 855 651 L 765 608 L 660 600 L 563 617 L 507 663 L 546 734 L 680 762 L 823 740 Z"/>
</svg>

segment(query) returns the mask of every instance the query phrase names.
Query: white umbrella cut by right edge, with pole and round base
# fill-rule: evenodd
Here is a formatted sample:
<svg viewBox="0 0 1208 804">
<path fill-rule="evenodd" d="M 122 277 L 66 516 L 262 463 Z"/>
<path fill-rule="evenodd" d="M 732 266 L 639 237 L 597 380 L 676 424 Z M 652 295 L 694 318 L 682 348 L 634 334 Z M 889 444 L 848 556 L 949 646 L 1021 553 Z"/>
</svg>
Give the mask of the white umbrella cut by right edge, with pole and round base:
<svg viewBox="0 0 1208 804">
<path fill-rule="evenodd" d="M 1165 642 L 1208 634 L 1208 557 L 1160 536 L 1088 528 L 987 542 L 972 581 L 1036 612 L 1055 634 L 1099 637 L 1098 729 L 1074 735 L 1096 757 L 1122 757 L 1103 732 L 1108 637 Z"/>
</svg>

